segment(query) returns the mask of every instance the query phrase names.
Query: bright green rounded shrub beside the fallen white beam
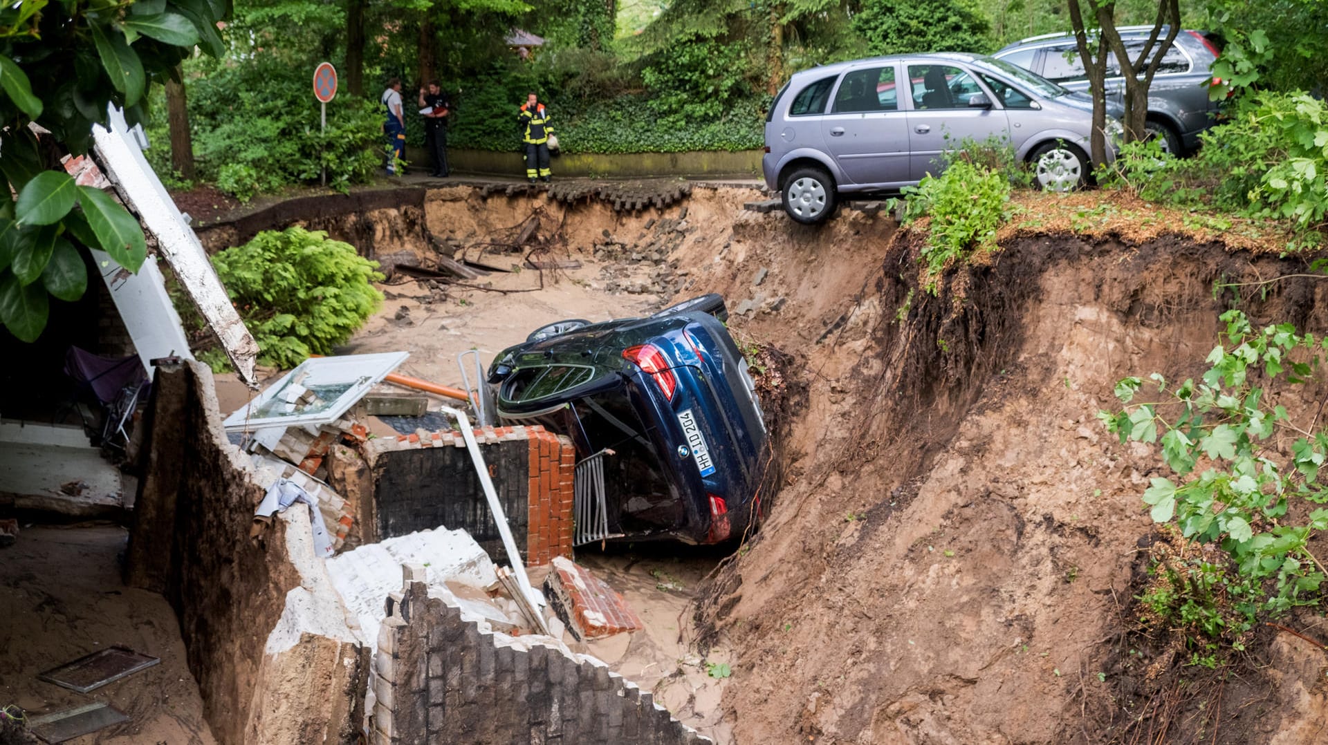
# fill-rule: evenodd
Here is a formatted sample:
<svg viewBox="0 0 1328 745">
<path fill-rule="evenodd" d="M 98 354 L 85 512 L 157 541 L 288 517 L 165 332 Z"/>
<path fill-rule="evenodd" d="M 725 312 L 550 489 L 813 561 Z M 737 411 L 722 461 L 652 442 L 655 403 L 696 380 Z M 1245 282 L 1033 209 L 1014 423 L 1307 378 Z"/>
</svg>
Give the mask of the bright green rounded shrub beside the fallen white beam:
<svg viewBox="0 0 1328 745">
<path fill-rule="evenodd" d="M 377 262 L 323 231 L 263 231 L 212 256 L 212 266 L 267 365 L 332 353 L 382 304 L 372 284 L 382 279 Z"/>
</svg>

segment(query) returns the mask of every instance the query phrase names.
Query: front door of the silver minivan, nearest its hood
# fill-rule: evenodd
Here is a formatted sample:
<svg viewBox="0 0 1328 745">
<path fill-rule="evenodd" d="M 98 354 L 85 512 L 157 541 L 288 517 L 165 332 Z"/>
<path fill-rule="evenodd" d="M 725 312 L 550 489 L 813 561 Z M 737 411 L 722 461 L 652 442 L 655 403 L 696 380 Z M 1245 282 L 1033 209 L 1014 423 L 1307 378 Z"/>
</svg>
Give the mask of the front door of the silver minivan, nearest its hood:
<svg viewBox="0 0 1328 745">
<path fill-rule="evenodd" d="M 995 104 L 969 106 L 976 94 L 995 101 L 967 68 L 955 62 L 908 65 L 912 110 L 908 112 L 910 181 L 940 173 L 939 157 L 965 139 L 1009 137 L 1005 112 Z"/>
</svg>

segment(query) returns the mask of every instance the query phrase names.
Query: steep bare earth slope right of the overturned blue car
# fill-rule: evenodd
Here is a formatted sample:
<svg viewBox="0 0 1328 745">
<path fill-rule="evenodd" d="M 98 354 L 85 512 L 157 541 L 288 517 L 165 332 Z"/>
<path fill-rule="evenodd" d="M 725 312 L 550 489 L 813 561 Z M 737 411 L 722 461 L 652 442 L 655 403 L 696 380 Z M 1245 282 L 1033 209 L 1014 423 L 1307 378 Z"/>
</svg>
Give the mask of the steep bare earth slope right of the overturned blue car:
<svg viewBox="0 0 1328 745">
<path fill-rule="evenodd" d="M 754 274 L 790 299 L 736 325 L 799 355 L 810 390 L 786 487 L 701 608 L 737 657 L 737 740 L 1313 740 L 1311 644 L 1266 635 L 1223 689 L 1126 633 L 1159 459 L 1094 420 L 1122 376 L 1204 369 L 1232 301 L 1214 283 L 1303 263 L 1175 235 L 1024 236 L 932 296 L 919 238 L 891 232 L 850 212 L 813 240 L 746 215 L 710 274 L 730 299 Z M 1242 307 L 1321 333 L 1321 293 L 1288 280 Z"/>
</svg>

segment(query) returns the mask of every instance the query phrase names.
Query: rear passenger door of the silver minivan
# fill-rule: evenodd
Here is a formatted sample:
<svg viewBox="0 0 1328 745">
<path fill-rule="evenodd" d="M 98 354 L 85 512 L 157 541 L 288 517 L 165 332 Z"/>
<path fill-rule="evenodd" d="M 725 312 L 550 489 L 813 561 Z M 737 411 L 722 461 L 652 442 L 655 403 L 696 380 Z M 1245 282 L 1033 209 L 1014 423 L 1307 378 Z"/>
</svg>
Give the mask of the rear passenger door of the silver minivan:
<svg viewBox="0 0 1328 745">
<path fill-rule="evenodd" d="M 858 186 L 908 181 L 907 113 L 894 62 L 850 69 L 822 118 L 826 150 Z"/>
</svg>

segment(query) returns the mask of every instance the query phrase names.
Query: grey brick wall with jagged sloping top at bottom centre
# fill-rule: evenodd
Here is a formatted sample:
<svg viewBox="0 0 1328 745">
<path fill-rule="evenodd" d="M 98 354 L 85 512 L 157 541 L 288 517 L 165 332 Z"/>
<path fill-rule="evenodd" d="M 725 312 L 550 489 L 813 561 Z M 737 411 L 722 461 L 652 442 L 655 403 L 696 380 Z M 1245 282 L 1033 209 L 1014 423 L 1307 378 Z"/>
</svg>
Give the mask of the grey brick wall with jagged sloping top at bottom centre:
<svg viewBox="0 0 1328 745">
<path fill-rule="evenodd" d="M 369 742 L 710 742 L 599 660 L 481 632 L 429 598 L 422 566 L 378 629 Z"/>
</svg>

